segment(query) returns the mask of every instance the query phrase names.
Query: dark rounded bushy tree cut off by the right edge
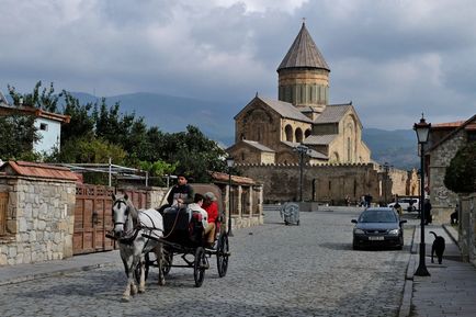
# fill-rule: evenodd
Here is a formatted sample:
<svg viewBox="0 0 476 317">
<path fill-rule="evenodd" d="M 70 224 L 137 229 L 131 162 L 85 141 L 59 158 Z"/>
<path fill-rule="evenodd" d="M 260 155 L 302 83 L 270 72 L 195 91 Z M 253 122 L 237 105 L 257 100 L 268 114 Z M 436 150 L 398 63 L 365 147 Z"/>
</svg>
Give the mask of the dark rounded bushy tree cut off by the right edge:
<svg viewBox="0 0 476 317">
<path fill-rule="evenodd" d="M 455 193 L 476 192 L 476 141 L 462 147 L 446 167 L 444 185 Z"/>
</svg>

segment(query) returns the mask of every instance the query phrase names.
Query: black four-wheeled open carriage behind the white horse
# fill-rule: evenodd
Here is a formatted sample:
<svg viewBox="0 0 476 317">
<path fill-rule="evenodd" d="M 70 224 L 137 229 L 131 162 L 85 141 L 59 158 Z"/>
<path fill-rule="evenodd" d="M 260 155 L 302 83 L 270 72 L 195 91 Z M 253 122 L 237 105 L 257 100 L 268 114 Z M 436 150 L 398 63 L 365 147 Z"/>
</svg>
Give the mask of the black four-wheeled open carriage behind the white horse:
<svg viewBox="0 0 476 317">
<path fill-rule="evenodd" d="M 163 217 L 163 236 L 157 237 L 150 234 L 144 234 L 146 238 L 157 240 L 163 246 L 163 263 L 161 263 L 161 270 L 165 275 L 169 274 L 171 268 L 192 268 L 195 286 L 202 286 L 205 278 L 205 271 L 209 269 L 209 260 L 216 257 L 216 265 L 218 270 L 218 276 L 226 275 L 228 269 L 228 258 L 230 256 L 228 245 L 228 233 L 225 228 L 225 212 L 222 200 L 222 191 L 214 184 L 195 183 L 192 184 L 194 192 L 205 194 L 206 192 L 214 193 L 216 203 L 218 205 L 218 218 L 216 223 L 216 240 L 214 248 L 205 246 L 203 238 L 203 226 L 201 226 L 201 219 L 197 214 L 193 213 L 192 217 L 185 208 L 173 210 L 170 208 L 162 213 Z M 162 205 L 167 203 L 167 196 L 165 196 Z M 180 257 L 183 262 L 174 261 L 177 257 Z M 157 259 L 154 252 L 145 254 L 145 265 L 136 267 L 136 276 L 140 276 L 140 270 L 144 268 L 145 278 L 147 279 L 149 269 L 157 265 Z"/>
</svg>

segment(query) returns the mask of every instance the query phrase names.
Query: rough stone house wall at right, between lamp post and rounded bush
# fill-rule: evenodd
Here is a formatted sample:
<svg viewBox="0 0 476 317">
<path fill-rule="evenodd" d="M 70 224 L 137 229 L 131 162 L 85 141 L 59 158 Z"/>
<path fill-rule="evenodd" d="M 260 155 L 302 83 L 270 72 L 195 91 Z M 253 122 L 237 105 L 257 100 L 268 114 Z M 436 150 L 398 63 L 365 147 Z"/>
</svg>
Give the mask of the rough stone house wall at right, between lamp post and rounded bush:
<svg viewBox="0 0 476 317">
<path fill-rule="evenodd" d="M 446 167 L 456 155 L 456 151 L 466 144 L 466 132 L 461 129 L 451 139 L 442 143 L 430 152 L 429 180 L 431 214 L 433 222 L 445 224 L 450 222 L 450 214 L 453 213 L 458 201 L 457 194 L 446 189 L 444 176 Z"/>
</svg>

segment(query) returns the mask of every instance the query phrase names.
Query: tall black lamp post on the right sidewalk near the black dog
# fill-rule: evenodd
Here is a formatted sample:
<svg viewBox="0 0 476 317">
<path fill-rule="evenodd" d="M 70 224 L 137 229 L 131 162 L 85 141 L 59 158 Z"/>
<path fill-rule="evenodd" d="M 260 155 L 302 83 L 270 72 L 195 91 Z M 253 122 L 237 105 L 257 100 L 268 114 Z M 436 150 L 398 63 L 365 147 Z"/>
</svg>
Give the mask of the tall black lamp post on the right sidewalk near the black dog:
<svg viewBox="0 0 476 317">
<path fill-rule="evenodd" d="M 423 211 L 423 201 L 424 201 L 424 144 L 428 141 L 428 135 L 430 133 L 431 124 L 424 121 L 423 114 L 421 114 L 421 118 L 419 123 L 413 125 L 413 129 L 417 132 L 418 144 L 420 145 L 420 170 L 421 170 L 421 179 L 420 179 L 420 262 L 418 264 L 418 269 L 415 272 L 417 276 L 430 276 L 430 272 L 427 270 L 427 264 L 424 263 L 424 211 Z"/>
</svg>

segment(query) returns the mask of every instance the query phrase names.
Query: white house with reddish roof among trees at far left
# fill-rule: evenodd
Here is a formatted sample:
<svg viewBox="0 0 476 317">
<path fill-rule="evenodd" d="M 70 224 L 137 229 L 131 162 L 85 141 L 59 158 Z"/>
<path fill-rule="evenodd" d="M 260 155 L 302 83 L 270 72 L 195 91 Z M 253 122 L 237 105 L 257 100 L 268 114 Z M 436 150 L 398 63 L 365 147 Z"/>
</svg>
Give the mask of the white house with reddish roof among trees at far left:
<svg viewBox="0 0 476 317">
<path fill-rule="evenodd" d="M 34 125 L 41 139 L 33 144 L 34 151 L 50 154 L 54 148 L 59 149 L 61 124 L 69 123 L 69 115 L 52 113 L 33 106 L 10 105 L 0 92 L 0 115 L 8 116 L 13 114 L 34 115 L 36 117 Z"/>
</svg>

